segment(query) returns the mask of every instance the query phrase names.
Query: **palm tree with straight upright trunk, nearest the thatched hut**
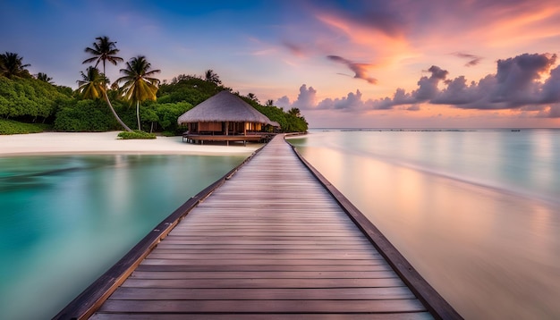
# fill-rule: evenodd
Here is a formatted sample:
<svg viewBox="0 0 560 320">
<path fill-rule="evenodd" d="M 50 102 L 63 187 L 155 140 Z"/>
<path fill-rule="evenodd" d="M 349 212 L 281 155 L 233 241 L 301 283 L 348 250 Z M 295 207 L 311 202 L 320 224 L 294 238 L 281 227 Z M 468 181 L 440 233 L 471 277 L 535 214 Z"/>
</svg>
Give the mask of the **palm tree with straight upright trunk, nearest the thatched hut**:
<svg viewBox="0 0 560 320">
<path fill-rule="evenodd" d="M 144 55 L 133 57 L 126 63 L 126 69 L 121 69 L 123 77 L 116 80 L 117 83 L 124 82 L 124 97 L 131 103 L 136 103 L 136 119 L 138 120 L 138 130 L 140 130 L 140 102 L 144 100 L 156 100 L 157 86 L 159 80 L 151 78 L 160 70 L 150 70 L 151 63 L 148 63 Z"/>
</svg>

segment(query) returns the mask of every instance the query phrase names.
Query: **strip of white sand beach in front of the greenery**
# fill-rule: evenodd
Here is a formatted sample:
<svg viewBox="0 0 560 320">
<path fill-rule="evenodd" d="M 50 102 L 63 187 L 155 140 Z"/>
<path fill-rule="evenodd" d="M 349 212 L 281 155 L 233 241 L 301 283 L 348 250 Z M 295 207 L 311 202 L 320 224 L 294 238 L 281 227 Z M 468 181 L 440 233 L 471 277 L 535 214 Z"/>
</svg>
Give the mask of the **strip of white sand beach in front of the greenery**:
<svg viewBox="0 0 560 320">
<path fill-rule="evenodd" d="M 119 131 L 0 135 L 0 156 L 43 154 L 250 155 L 262 144 L 194 145 L 181 137 L 118 139 Z"/>
</svg>

